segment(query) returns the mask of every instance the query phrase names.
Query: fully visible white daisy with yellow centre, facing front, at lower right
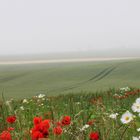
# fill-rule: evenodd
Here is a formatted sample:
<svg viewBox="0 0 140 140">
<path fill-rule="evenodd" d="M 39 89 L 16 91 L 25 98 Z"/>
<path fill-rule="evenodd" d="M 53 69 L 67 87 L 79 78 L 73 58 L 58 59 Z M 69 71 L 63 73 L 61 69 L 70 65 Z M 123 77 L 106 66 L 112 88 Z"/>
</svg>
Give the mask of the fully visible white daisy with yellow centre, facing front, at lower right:
<svg viewBox="0 0 140 140">
<path fill-rule="evenodd" d="M 127 124 L 131 122 L 132 120 L 133 120 L 133 114 L 130 113 L 129 111 L 126 111 L 121 117 L 121 122 L 123 124 Z"/>
</svg>

